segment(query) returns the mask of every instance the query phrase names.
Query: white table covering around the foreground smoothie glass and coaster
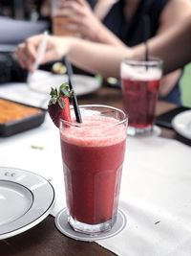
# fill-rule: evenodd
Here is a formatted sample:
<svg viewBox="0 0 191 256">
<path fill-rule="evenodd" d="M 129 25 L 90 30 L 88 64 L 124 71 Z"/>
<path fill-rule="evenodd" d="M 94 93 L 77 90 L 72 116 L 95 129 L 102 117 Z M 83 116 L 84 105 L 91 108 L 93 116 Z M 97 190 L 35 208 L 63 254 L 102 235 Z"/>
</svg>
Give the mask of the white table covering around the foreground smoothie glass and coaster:
<svg viewBox="0 0 191 256">
<path fill-rule="evenodd" d="M 119 207 L 127 225 L 98 244 L 120 256 L 191 254 L 191 150 L 159 137 L 128 138 Z M 58 128 L 49 116 L 39 128 L 0 138 L 0 166 L 51 179 L 53 216 L 65 207 Z"/>
</svg>

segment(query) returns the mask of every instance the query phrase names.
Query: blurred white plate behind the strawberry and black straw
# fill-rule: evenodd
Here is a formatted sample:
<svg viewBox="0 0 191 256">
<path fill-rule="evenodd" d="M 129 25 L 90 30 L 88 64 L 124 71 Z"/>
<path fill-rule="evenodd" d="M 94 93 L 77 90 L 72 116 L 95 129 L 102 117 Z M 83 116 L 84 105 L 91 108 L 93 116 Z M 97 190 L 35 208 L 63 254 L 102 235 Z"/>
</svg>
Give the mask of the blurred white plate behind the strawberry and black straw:
<svg viewBox="0 0 191 256">
<path fill-rule="evenodd" d="M 73 75 L 72 80 L 76 96 L 92 93 L 101 86 L 101 82 L 98 77 Z M 58 87 L 64 82 L 68 82 L 67 75 L 53 75 L 50 72 L 37 70 L 31 76 L 29 85 L 34 90 L 50 93 L 51 87 Z"/>
</svg>

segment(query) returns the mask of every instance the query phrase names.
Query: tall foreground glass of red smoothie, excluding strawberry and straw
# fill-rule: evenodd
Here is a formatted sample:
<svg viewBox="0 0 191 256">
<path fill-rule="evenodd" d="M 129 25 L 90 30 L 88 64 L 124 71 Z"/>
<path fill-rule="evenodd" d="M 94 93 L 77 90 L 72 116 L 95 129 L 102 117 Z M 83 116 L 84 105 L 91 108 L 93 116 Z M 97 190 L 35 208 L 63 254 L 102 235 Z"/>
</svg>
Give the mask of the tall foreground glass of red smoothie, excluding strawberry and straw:
<svg viewBox="0 0 191 256">
<path fill-rule="evenodd" d="M 80 105 L 80 112 L 81 124 L 60 122 L 68 221 L 75 231 L 96 234 L 117 220 L 127 117 L 106 105 Z"/>
</svg>

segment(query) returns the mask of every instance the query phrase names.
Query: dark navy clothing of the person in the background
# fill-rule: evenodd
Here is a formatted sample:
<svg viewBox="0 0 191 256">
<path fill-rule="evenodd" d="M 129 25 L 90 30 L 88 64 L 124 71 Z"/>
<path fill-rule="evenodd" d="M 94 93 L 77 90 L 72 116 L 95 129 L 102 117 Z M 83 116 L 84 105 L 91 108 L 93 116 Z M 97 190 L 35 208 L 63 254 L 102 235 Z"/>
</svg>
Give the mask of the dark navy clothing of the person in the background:
<svg viewBox="0 0 191 256">
<path fill-rule="evenodd" d="M 159 29 L 160 14 L 169 0 L 140 0 L 138 9 L 131 18 L 126 20 L 124 16 L 125 0 L 118 0 L 103 19 L 103 24 L 110 29 L 126 45 L 133 47 L 145 41 L 146 37 L 153 37 Z M 96 0 L 89 0 L 94 8 Z M 144 18 L 149 18 L 149 31 L 145 35 Z M 148 35 L 149 34 L 149 35 Z M 162 100 L 180 105 L 180 83 Z"/>
</svg>

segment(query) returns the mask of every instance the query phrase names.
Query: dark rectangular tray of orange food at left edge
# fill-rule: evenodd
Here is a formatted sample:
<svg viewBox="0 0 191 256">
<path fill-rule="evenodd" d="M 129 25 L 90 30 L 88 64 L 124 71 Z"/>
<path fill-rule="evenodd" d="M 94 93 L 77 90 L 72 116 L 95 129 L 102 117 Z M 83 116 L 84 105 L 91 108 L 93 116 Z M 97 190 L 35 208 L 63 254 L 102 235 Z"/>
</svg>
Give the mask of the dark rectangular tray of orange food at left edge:
<svg viewBox="0 0 191 256">
<path fill-rule="evenodd" d="M 0 137 L 37 128 L 44 122 L 45 115 L 46 110 L 40 107 L 0 98 Z"/>
</svg>

